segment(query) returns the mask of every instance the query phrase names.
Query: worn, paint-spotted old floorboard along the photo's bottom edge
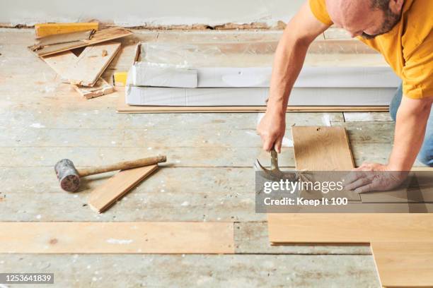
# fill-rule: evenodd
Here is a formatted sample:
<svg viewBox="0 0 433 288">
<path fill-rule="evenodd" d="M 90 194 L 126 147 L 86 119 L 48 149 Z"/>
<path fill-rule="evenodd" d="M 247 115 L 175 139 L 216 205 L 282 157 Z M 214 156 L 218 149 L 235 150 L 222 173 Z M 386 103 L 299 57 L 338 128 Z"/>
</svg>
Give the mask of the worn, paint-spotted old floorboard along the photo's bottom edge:
<svg viewBox="0 0 433 288">
<path fill-rule="evenodd" d="M 379 287 L 371 255 L 0 254 L 0 268 L 53 272 L 54 287 Z"/>
</svg>

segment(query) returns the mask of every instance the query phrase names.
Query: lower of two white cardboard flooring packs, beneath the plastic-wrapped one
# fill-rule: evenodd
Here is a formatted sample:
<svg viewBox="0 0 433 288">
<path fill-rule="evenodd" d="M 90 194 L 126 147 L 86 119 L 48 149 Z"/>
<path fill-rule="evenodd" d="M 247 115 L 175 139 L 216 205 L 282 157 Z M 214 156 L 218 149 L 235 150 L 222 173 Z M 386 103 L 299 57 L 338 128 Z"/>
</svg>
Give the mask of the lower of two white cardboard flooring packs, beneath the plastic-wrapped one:
<svg viewBox="0 0 433 288">
<path fill-rule="evenodd" d="M 152 88 L 127 86 L 126 103 L 154 106 L 262 106 L 268 88 Z M 294 88 L 292 106 L 388 105 L 396 88 Z"/>
</svg>

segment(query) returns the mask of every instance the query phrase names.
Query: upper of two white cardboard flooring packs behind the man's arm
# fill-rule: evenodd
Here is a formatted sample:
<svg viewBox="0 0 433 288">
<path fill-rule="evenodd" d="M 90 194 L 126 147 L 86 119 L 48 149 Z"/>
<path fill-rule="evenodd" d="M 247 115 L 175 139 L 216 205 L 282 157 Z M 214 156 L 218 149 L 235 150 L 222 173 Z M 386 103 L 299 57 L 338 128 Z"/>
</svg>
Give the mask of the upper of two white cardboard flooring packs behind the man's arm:
<svg viewBox="0 0 433 288">
<path fill-rule="evenodd" d="M 129 85 L 171 88 L 268 88 L 271 67 L 181 68 L 136 62 Z M 397 88 L 401 80 L 386 66 L 304 66 L 295 88 Z"/>
</svg>

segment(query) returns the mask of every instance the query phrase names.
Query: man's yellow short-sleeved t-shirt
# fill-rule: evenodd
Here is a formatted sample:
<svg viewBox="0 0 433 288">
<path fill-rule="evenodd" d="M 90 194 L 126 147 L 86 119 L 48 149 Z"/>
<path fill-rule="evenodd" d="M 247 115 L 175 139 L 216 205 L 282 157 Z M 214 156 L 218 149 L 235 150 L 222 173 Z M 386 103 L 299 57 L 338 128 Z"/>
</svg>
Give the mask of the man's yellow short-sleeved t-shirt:
<svg viewBox="0 0 433 288">
<path fill-rule="evenodd" d="M 333 25 L 325 0 L 308 0 L 311 12 Z M 403 80 L 403 94 L 412 99 L 433 97 L 433 0 L 405 0 L 400 22 L 372 40 L 357 37 L 376 49 Z"/>
</svg>

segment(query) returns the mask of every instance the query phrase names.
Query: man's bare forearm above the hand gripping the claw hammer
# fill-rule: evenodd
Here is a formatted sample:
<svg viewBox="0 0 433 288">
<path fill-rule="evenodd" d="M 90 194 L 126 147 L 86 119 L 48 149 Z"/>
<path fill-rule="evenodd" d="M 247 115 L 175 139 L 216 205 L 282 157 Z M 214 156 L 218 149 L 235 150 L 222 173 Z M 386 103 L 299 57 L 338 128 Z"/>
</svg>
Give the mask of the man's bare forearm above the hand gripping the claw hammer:
<svg viewBox="0 0 433 288">
<path fill-rule="evenodd" d="M 275 113 L 285 113 L 291 88 L 298 78 L 310 42 L 296 37 L 294 27 L 287 25 L 282 39 L 275 52 L 272 78 L 270 82 L 270 97 L 268 110 Z"/>
</svg>

